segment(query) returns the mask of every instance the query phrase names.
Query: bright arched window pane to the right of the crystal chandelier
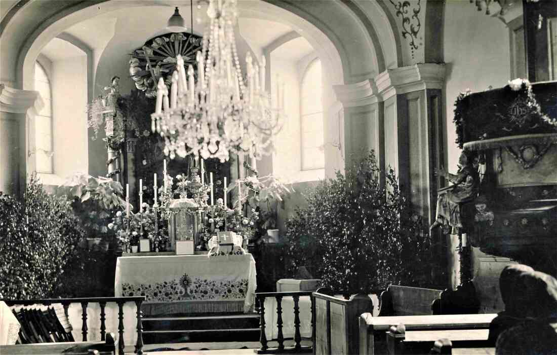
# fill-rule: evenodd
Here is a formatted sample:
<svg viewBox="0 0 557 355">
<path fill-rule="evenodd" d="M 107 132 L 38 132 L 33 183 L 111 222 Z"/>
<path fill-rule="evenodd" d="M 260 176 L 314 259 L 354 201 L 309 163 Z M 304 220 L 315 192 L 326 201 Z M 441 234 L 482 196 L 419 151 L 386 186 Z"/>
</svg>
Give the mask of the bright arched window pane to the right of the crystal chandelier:
<svg viewBox="0 0 557 355">
<path fill-rule="evenodd" d="M 321 61 L 315 59 L 302 76 L 300 101 L 302 170 L 323 169 L 323 83 Z"/>
</svg>

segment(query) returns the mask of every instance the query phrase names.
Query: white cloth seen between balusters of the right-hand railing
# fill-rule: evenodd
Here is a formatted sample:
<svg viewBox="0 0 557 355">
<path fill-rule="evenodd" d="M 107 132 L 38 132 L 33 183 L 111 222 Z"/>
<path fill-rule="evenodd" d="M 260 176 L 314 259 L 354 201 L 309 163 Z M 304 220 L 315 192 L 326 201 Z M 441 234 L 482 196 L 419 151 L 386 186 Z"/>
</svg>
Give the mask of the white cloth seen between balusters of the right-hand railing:
<svg viewBox="0 0 557 355">
<path fill-rule="evenodd" d="M 294 338 L 294 299 L 282 298 L 282 336 Z M 311 301 L 310 296 L 300 297 L 300 335 L 311 338 Z M 278 338 L 277 328 L 277 300 L 274 297 L 265 299 L 265 336 L 267 340 Z"/>
</svg>

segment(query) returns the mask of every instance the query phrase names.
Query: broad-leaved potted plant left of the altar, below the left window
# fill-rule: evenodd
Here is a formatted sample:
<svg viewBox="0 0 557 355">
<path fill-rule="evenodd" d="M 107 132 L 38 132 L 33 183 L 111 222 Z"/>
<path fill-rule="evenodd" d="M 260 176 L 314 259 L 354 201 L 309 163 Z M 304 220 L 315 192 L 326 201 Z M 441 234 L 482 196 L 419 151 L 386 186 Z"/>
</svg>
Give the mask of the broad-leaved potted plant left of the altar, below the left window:
<svg viewBox="0 0 557 355">
<path fill-rule="evenodd" d="M 108 224 L 118 210 L 125 208 L 122 185 L 107 178 L 76 174 L 58 188 L 58 194 L 71 201 L 74 213 L 89 236 L 89 249 L 108 250 L 106 244 L 111 240 Z"/>
</svg>

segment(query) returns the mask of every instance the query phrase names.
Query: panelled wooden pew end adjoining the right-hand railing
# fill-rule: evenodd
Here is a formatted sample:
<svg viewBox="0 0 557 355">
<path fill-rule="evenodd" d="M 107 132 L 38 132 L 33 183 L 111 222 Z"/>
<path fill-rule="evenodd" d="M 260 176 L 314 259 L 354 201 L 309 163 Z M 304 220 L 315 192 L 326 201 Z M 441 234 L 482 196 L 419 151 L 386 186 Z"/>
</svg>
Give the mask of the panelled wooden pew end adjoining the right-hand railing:
<svg viewBox="0 0 557 355">
<path fill-rule="evenodd" d="M 314 355 L 357 354 L 358 316 L 373 311 L 372 299 L 367 295 L 354 295 L 345 300 L 320 291 L 312 294 L 315 308 Z"/>
</svg>

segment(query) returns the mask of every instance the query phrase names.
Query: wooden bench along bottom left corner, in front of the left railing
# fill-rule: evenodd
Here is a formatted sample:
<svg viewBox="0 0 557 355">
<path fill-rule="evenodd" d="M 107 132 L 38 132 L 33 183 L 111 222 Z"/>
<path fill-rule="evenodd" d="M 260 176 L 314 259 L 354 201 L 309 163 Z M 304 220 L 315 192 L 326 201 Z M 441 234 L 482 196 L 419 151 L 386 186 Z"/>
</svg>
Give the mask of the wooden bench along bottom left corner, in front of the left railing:
<svg viewBox="0 0 557 355">
<path fill-rule="evenodd" d="M 63 342 L 0 346 L 2 355 L 113 355 L 116 353 L 113 333 L 104 342 Z"/>
</svg>

